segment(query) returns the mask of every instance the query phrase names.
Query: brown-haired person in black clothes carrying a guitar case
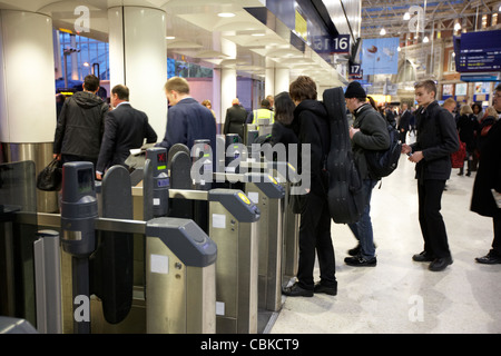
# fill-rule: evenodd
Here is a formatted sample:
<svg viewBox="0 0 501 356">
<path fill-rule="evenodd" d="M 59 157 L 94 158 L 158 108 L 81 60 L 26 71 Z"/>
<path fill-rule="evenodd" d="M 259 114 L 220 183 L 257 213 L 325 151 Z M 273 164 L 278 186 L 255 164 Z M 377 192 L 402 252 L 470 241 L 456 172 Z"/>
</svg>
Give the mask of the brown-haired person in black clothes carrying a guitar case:
<svg viewBox="0 0 501 356">
<path fill-rule="evenodd" d="M 311 175 L 311 187 L 302 201 L 299 225 L 299 263 L 297 281 L 282 289 L 286 296 L 313 297 L 314 293 L 336 295 L 334 247 L 331 239 L 331 215 L 328 212 L 328 179 L 324 171 L 325 159 L 331 148 L 327 111 L 316 100 L 316 83 L 299 76 L 289 86 L 291 98 L 296 108 L 294 121 L 297 122 L 299 150 L 310 147 L 310 172 L 303 171 L 307 165 L 299 162 L 301 175 Z M 301 155 L 302 157 L 303 155 Z M 320 265 L 320 283 L 314 283 L 315 250 Z"/>
</svg>

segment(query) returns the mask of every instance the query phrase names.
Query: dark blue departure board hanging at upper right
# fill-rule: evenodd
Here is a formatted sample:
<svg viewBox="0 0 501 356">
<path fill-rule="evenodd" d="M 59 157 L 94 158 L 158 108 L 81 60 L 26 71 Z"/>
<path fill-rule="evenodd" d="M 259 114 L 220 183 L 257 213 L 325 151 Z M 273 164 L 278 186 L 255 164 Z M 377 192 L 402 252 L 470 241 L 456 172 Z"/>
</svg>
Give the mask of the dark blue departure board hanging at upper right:
<svg viewBox="0 0 501 356">
<path fill-rule="evenodd" d="M 460 43 L 459 72 L 501 70 L 501 30 L 462 33 Z"/>
</svg>

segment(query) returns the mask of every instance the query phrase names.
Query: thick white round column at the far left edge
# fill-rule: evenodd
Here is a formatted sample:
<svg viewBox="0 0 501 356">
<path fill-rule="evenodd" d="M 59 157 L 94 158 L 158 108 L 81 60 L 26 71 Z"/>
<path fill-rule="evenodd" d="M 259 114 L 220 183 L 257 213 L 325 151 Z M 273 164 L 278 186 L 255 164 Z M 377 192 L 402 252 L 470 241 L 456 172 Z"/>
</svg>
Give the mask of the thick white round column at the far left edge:
<svg viewBox="0 0 501 356">
<path fill-rule="evenodd" d="M 0 10 L 0 161 L 52 159 L 56 130 L 52 19 Z M 37 190 L 38 211 L 53 212 L 57 195 Z"/>
</svg>

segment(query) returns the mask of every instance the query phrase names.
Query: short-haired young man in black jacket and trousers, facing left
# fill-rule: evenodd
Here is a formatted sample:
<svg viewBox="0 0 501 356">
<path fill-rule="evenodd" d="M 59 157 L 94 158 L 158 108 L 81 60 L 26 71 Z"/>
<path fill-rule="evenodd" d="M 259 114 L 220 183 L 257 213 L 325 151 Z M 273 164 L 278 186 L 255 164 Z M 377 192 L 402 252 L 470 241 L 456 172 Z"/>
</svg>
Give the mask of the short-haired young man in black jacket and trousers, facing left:
<svg viewBox="0 0 501 356">
<path fill-rule="evenodd" d="M 440 271 L 452 264 L 448 234 L 440 214 L 442 192 L 451 176 L 451 154 L 459 149 L 454 119 L 435 100 L 436 85 L 424 80 L 415 85 L 415 99 L 420 108 L 416 142 L 402 145 L 402 152 L 416 164 L 419 219 L 424 250 L 412 257 L 415 261 L 431 261 L 429 269 Z"/>
</svg>

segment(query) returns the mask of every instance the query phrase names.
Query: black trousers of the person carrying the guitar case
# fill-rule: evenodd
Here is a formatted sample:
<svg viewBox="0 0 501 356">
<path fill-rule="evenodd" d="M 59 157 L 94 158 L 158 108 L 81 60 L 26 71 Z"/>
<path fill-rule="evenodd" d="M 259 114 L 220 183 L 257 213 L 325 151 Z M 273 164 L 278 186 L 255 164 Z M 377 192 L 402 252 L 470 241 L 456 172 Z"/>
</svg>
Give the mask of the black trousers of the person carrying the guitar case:
<svg viewBox="0 0 501 356">
<path fill-rule="evenodd" d="M 331 239 L 331 215 L 325 196 L 310 192 L 302 207 L 299 225 L 299 264 L 297 279 L 299 287 L 313 290 L 315 250 L 318 256 L 321 283 L 332 287 L 336 284 L 334 247 Z"/>
</svg>

